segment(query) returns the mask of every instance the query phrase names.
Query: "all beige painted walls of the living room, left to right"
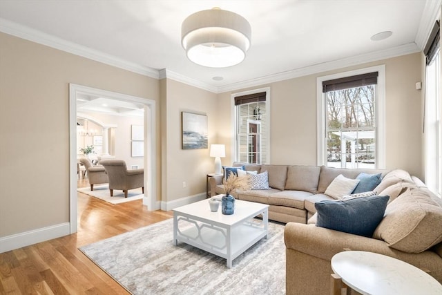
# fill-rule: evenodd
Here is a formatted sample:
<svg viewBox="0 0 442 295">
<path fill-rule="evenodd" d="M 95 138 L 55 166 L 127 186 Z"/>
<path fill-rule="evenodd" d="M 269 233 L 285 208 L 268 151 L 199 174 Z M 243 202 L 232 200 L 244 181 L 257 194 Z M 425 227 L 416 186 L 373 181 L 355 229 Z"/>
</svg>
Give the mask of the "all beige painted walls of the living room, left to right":
<svg viewBox="0 0 442 295">
<path fill-rule="evenodd" d="M 316 77 L 377 64 L 386 66 L 387 168 L 422 177 L 419 53 L 253 87 L 271 91 L 271 162 L 316 164 Z M 69 221 L 69 83 L 157 102 L 157 200 L 204 193 L 213 172 L 209 149 L 181 149 L 182 111 L 208 116 L 209 146 L 227 144 L 222 164 L 231 163 L 231 93 L 158 81 L 0 33 L 0 238 Z"/>
</svg>

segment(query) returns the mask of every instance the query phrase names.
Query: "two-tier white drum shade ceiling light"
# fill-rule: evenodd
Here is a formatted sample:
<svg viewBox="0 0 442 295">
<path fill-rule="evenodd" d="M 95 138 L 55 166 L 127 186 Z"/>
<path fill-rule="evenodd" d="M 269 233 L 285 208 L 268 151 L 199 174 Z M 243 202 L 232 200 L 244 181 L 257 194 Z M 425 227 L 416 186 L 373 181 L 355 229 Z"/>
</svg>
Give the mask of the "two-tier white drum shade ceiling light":
<svg viewBox="0 0 442 295">
<path fill-rule="evenodd" d="M 201 66 L 225 68 L 239 64 L 250 41 L 249 21 L 220 8 L 195 12 L 181 26 L 181 44 L 186 55 Z"/>
</svg>

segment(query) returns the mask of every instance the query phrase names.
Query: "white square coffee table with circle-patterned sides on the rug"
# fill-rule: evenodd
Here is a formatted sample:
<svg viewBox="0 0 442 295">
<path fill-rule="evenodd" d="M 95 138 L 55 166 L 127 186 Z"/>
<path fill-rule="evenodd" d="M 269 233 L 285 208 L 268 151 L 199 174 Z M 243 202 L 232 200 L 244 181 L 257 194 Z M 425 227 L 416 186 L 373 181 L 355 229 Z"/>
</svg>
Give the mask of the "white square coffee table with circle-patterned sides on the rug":
<svg viewBox="0 0 442 295">
<path fill-rule="evenodd" d="M 219 196 L 220 197 L 220 196 Z M 173 244 L 178 241 L 227 259 L 227 267 L 261 238 L 267 238 L 269 205 L 236 200 L 232 215 L 210 211 L 209 199 L 173 209 Z M 262 220 L 254 219 L 262 215 Z"/>
</svg>

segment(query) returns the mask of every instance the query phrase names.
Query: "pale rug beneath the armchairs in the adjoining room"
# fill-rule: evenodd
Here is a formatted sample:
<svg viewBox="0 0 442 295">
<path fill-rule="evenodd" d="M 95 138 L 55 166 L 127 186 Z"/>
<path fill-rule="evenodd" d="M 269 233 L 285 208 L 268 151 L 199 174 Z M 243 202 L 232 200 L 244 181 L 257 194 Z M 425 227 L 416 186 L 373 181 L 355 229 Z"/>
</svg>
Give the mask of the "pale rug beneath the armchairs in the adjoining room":
<svg viewBox="0 0 442 295">
<path fill-rule="evenodd" d="M 131 189 L 128 191 L 127 198 L 124 198 L 123 191 L 117 191 L 114 189 L 113 197 L 109 192 L 108 184 L 94 185 L 94 190 L 91 191 L 90 187 L 81 187 L 77 189 L 80 193 L 85 193 L 88 196 L 99 198 L 112 204 L 119 204 L 124 202 L 131 202 L 133 200 L 140 200 L 143 198 L 142 188 Z"/>
</svg>

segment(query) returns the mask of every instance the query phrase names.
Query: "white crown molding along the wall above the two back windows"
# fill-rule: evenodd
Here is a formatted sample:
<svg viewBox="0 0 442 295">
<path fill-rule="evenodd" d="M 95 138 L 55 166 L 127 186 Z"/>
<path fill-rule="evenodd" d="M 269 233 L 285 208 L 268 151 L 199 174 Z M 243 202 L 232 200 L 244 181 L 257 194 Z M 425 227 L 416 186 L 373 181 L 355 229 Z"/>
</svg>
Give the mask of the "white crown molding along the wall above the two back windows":
<svg viewBox="0 0 442 295">
<path fill-rule="evenodd" d="M 397 46 L 395 48 L 388 48 L 385 50 L 378 50 L 373 53 L 367 53 L 364 55 L 356 55 L 354 57 L 347 57 L 345 59 L 337 59 L 334 61 L 327 61 L 322 64 L 316 64 L 313 66 L 307 66 L 305 68 L 297 68 L 295 70 L 288 70 L 287 72 L 278 73 L 275 75 L 269 75 L 256 79 L 250 79 L 244 82 L 238 82 L 229 84 L 226 86 L 218 87 L 217 93 L 224 93 L 228 91 L 236 91 L 242 88 L 248 88 L 253 86 L 260 86 L 263 84 L 269 84 L 273 82 L 279 82 L 287 79 L 293 79 L 297 77 L 303 77 L 307 75 L 313 75 L 317 73 L 327 72 L 329 70 L 337 70 L 339 68 L 346 68 L 348 66 L 357 66 L 359 64 L 365 64 L 371 61 L 378 61 L 381 59 L 388 59 L 391 57 L 398 57 L 401 55 L 408 55 L 411 53 L 418 53 L 421 51 L 415 43 L 405 44 Z"/>
</svg>

